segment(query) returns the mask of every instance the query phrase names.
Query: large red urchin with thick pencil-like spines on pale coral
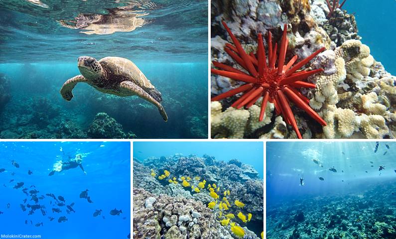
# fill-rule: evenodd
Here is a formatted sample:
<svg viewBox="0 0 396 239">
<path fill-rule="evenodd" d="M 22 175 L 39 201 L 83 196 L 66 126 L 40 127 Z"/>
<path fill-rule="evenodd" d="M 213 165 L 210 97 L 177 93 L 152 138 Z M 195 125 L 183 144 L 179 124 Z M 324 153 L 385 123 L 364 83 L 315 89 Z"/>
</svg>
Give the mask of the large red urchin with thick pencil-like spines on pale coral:
<svg viewBox="0 0 396 239">
<path fill-rule="evenodd" d="M 293 127 L 298 138 L 302 137 L 300 131 L 298 130 L 297 122 L 294 119 L 294 115 L 289 106 L 290 101 L 293 102 L 295 106 L 304 110 L 321 125 L 326 125 L 326 121 L 320 118 L 320 116 L 309 107 L 308 98 L 306 98 L 297 90 L 297 88 L 315 88 L 314 84 L 304 82 L 302 80 L 315 73 L 322 72 L 323 69 L 296 72 L 310 60 L 312 60 L 317 54 L 325 50 L 324 47 L 298 62 L 294 66 L 293 64 L 297 60 L 296 55 L 291 58 L 291 60 L 286 65 L 284 65 L 288 45 L 286 24 L 284 25 L 283 29 L 278 57 L 276 55 L 278 48 L 277 43 L 275 43 L 275 46 L 272 48 L 271 32 L 268 32 L 268 57 L 265 55 L 263 36 L 261 33 L 259 33 L 258 37 L 257 54 L 252 52 L 248 55 L 242 48 L 241 43 L 237 40 L 224 21 L 223 25 L 234 42 L 234 45 L 226 43 L 224 50 L 248 73 L 213 61 L 213 65 L 215 67 L 222 69 L 211 69 L 213 74 L 229 77 L 234 80 L 245 82 L 246 84 L 220 94 L 212 98 L 212 101 L 219 101 L 243 92 L 244 94 L 242 97 L 231 105 L 231 107 L 240 109 L 244 106 L 246 106 L 246 108 L 253 106 L 260 99 L 260 97 L 263 96 L 259 120 L 263 120 L 265 107 L 269 101 L 270 103 L 274 104 L 276 114 L 281 114 L 285 122 Z M 277 66 L 275 67 L 276 58 L 278 61 Z"/>
</svg>

